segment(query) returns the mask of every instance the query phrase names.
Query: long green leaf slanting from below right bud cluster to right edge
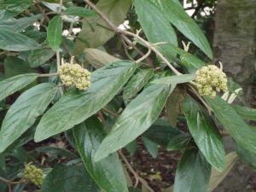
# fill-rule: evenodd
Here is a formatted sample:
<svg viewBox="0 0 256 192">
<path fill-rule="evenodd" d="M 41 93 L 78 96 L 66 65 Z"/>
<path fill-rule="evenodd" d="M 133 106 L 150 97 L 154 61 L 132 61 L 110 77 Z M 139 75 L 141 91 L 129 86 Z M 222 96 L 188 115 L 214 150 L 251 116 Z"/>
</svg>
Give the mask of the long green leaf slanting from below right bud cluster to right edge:
<svg viewBox="0 0 256 192">
<path fill-rule="evenodd" d="M 255 133 L 241 119 L 235 109 L 219 96 L 215 96 L 214 98 L 204 96 L 204 98 L 219 121 L 224 125 L 225 129 L 229 131 L 230 136 L 233 137 L 241 147 L 247 148 L 247 150 L 256 154 Z"/>
</svg>

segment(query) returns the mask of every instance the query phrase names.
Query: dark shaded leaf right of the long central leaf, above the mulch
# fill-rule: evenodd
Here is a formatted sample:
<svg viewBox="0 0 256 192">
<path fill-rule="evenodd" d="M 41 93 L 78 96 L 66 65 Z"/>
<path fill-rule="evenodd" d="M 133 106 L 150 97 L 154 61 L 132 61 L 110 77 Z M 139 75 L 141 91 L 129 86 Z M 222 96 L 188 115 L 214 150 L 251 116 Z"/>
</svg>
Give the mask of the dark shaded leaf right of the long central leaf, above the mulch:
<svg viewBox="0 0 256 192">
<path fill-rule="evenodd" d="M 143 133 L 143 137 L 166 147 L 174 137 L 177 137 L 177 135 L 181 133 L 182 131 L 172 128 L 168 121 L 164 119 L 156 119 L 154 124 Z"/>
</svg>

